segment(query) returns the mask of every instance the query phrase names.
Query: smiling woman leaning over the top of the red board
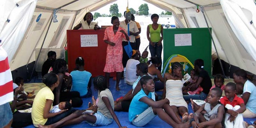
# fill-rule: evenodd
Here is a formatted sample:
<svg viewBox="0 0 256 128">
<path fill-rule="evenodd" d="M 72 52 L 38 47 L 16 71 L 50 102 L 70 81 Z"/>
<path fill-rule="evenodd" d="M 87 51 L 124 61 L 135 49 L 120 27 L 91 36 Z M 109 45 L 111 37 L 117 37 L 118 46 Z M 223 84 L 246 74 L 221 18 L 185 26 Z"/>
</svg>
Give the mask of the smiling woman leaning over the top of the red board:
<svg viewBox="0 0 256 128">
<path fill-rule="evenodd" d="M 92 13 L 88 12 L 85 14 L 83 20 L 81 20 L 79 22 L 78 25 L 76 25 L 73 30 L 77 30 L 80 29 L 82 27 L 82 29 L 100 29 L 100 27 L 98 26 L 97 22 L 92 22 L 93 21 L 93 15 Z"/>
</svg>

